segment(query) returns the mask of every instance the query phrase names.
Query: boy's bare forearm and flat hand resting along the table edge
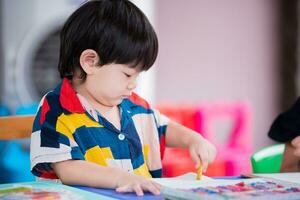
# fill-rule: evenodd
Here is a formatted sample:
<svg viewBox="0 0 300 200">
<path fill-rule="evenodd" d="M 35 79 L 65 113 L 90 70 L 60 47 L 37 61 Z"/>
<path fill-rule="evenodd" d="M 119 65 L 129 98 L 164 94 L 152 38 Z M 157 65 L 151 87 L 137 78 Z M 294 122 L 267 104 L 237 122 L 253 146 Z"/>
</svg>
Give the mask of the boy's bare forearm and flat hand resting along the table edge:
<svg viewBox="0 0 300 200">
<path fill-rule="evenodd" d="M 113 167 L 102 167 L 84 160 L 66 160 L 53 163 L 52 167 L 62 183 L 97 188 L 116 188 L 118 192 L 143 191 L 159 194 L 159 185 L 150 179 Z"/>
</svg>

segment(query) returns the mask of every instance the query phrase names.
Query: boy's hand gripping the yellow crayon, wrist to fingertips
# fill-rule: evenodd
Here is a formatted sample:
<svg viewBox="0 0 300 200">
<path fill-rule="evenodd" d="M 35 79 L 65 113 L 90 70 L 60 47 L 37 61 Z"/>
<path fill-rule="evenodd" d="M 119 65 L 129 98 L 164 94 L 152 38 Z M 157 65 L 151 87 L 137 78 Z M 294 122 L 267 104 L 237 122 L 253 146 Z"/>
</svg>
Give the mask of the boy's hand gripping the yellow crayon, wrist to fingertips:
<svg viewBox="0 0 300 200">
<path fill-rule="evenodd" d="M 217 154 L 217 150 L 213 144 L 202 137 L 194 138 L 189 145 L 190 155 L 196 163 L 196 168 L 202 161 L 202 170 L 206 172 L 208 164 L 211 163 Z"/>
</svg>

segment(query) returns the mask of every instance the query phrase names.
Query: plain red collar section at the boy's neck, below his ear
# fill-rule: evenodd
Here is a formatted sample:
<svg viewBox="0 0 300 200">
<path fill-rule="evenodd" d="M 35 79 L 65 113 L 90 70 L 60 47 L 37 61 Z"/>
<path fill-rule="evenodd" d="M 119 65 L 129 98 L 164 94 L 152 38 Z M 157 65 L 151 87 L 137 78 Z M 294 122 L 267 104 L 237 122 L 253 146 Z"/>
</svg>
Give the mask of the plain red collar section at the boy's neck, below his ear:
<svg viewBox="0 0 300 200">
<path fill-rule="evenodd" d="M 84 113 L 85 110 L 81 105 L 72 85 L 69 80 L 64 78 L 62 86 L 60 89 L 60 98 L 61 106 L 68 110 L 71 113 Z"/>
</svg>

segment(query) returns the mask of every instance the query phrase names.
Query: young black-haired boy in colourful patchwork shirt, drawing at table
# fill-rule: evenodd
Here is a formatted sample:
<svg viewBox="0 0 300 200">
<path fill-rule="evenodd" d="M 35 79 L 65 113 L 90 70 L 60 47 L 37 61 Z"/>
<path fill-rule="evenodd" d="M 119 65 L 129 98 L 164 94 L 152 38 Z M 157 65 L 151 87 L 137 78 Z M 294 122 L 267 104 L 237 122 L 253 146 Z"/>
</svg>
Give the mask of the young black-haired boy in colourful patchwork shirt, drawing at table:
<svg viewBox="0 0 300 200">
<path fill-rule="evenodd" d="M 42 99 L 33 125 L 32 173 L 65 184 L 159 194 L 149 178 L 161 177 L 165 144 L 189 148 L 205 171 L 215 147 L 133 93 L 157 51 L 151 24 L 130 1 L 89 1 L 76 10 L 61 32 L 63 80 Z"/>
</svg>

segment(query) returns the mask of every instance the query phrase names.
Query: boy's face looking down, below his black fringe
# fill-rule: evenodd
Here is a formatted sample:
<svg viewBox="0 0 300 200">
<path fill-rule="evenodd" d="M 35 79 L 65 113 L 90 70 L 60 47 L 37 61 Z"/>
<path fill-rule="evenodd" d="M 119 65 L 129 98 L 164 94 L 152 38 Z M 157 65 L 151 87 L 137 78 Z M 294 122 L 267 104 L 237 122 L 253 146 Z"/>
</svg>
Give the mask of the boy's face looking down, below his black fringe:
<svg viewBox="0 0 300 200">
<path fill-rule="evenodd" d="M 87 75 L 84 87 L 94 103 L 112 107 L 131 95 L 139 74 L 138 67 L 111 63 L 95 67 L 94 72 Z"/>
</svg>

